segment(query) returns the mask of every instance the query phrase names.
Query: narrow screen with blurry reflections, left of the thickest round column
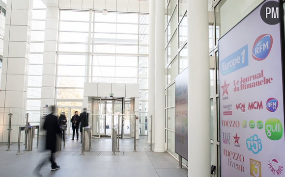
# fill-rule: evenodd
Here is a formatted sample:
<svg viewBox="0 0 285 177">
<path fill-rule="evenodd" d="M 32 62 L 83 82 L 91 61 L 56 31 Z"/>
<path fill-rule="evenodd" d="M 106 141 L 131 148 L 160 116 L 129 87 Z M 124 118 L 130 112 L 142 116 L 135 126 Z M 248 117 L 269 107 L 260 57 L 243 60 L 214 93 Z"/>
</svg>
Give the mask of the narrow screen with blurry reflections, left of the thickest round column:
<svg viewBox="0 0 285 177">
<path fill-rule="evenodd" d="M 175 152 L 188 160 L 188 68 L 175 77 Z"/>
</svg>

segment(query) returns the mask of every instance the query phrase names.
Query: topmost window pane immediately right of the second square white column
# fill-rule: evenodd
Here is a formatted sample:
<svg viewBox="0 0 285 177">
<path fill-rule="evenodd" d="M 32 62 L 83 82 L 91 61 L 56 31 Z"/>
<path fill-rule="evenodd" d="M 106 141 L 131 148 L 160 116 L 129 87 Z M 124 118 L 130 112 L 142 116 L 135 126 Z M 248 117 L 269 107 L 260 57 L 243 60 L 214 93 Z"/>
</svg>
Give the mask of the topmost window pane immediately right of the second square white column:
<svg viewBox="0 0 285 177">
<path fill-rule="evenodd" d="M 60 20 L 70 20 L 70 21 L 86 21 L 89 22 L 89 12 L 88 11 L 60 11 Z"/>
</svg>

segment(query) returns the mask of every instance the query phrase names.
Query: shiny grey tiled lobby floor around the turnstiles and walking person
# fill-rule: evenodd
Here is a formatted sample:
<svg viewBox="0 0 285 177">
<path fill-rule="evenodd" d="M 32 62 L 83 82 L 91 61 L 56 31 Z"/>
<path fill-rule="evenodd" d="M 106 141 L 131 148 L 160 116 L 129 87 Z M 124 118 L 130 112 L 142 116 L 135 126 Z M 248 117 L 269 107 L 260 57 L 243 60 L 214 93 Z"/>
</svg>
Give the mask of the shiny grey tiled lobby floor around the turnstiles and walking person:
<svg viewBox="0 0 285 177">
<path fill-rule="evenodd" d="M 43 148 L 42 137 L 38 149 L 36 139 L 33 141 L 33 151 L 24 151 L 24 143 L 21 143 L 19 155 L 16 155 L 17 143 L 12 143 L 11 151 L 6 151 L 6 143 L 0 143 L 0 177 L 34 177 L 32 171 L 49 157 L 49 152 Z M 71 141 L 71 136 L 67 136 L 66 149 L 56 152 L 60 169 L 51 171 L 50 161 L 47 161 L 40 174 L 43 177 L 187 177 L 188 170 L 179 169 L 178 161 L 168 152 L 149 152 L 146 136 L 140 136 L 137 152 L 133 150 L 134 139 L 120 139 L 120 152 L 113 155 L 112 139 L 93 138 L 90 152 L 81 155 L 80 138 Z"/>
</svg>

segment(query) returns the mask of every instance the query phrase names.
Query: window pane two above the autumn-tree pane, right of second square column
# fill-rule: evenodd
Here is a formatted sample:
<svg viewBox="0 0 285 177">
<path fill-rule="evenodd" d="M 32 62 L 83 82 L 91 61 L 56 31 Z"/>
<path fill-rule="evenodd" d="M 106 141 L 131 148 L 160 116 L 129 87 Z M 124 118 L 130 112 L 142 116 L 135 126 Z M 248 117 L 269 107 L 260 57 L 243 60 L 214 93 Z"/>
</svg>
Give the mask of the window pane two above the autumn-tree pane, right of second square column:
<svg viewBox="0 0 285 177">
<path fill-rule="evenodd" d="M 58 76 L 85 76 L 85 66 L 57 66 Z"/>
</svg>

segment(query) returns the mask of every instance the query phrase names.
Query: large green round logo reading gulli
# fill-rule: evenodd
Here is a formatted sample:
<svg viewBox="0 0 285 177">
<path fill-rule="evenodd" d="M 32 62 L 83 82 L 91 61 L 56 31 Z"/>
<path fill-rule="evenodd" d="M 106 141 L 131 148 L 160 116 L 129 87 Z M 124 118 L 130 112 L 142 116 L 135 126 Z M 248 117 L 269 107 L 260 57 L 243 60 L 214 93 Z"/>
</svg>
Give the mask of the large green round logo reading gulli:
<svg viewBox="0 0 285 177">
<path fill-rule="evenodd" d="M 283 135 L 283 127 L 279 119 L 271 118 L 265 122 L 266 136 L 271 140 L 280 140 Z"/>
</svg>

